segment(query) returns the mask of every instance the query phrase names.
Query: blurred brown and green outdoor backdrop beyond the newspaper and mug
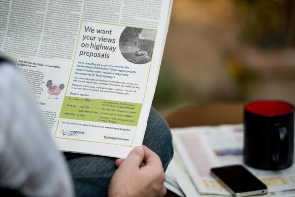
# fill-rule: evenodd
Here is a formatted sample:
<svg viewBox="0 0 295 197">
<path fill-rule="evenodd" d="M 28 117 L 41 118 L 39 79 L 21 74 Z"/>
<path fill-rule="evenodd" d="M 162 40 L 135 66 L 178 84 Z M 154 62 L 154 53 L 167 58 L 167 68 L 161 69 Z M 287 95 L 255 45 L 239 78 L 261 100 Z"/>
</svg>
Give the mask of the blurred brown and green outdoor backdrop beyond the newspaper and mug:
<svg viewBox="0 0 295 197">
<path fill-rule="evenodd" d="M 174 0 L 153 106 L 295 104 L 294 0 Z"/>
</svg>

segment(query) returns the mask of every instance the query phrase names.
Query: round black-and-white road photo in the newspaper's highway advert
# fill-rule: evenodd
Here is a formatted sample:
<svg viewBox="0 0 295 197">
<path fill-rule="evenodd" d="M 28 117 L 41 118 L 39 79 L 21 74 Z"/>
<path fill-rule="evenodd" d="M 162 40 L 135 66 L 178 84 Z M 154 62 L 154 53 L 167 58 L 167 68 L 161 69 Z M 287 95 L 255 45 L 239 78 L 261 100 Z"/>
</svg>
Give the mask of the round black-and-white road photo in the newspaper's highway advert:
<svg viewBox="0 0 295 197">
<path fill-rule="evenodd" d="M 148 63 L 152 58 L 155 38 L 155 30 L 126 27 L 120 36 L 120 51 L 131 63 Z"/>
</svg>

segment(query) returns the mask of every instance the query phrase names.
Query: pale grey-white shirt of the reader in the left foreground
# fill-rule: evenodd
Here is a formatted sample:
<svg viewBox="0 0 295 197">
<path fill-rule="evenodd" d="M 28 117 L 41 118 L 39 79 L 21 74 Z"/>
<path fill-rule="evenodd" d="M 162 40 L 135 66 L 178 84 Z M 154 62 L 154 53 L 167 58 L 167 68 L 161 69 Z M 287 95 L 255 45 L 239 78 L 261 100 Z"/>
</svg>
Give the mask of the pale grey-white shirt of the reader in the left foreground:
<svg viewBox="0 0 295 197">
<path fill-rule="evenodd" d="M 29 197 L 72 197 L 66 162 L 31 97 L 14 67 L 0 63 L 0 187 Z"/>
</svg>

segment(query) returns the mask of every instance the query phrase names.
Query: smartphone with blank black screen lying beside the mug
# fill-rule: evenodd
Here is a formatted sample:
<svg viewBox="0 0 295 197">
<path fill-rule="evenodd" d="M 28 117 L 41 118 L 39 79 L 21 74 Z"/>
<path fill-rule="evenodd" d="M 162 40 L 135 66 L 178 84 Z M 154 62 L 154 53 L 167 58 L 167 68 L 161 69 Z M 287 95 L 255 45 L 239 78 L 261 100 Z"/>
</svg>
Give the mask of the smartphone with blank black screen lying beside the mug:
<svg viewBox="0 0 295 197">
<path fill-rule="evenodd" d="M 211 175 L 235 197 L 267 194 L 267 186 L 241 165 L 212 168 Z"/>
</svg>

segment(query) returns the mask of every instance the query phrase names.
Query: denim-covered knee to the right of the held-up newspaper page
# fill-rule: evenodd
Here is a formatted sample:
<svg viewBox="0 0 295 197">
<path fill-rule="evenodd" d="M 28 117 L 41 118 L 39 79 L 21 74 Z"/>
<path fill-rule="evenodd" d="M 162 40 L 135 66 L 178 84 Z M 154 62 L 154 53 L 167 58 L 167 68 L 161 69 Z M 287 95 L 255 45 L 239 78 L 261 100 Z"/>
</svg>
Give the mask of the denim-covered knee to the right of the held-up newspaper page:
<svg viewBox="0 0 295 197">
<path fill-rule="evenodd" d="M 143 144 L 160 156 L 166 169 L 173 156 L 171 131 L 167 122 L 153 107 L 150 109 Z"/>
</svg>

